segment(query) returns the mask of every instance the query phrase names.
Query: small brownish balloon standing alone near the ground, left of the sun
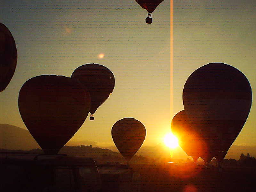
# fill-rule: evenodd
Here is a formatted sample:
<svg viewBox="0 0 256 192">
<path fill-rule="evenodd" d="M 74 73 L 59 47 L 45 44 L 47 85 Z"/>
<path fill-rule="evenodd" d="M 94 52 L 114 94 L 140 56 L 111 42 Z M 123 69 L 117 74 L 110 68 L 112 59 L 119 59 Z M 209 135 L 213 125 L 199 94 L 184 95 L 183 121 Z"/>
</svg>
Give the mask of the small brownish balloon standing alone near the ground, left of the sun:
<svg viewBox="0 0 256 192">
<path fill-rule="evenodd" d="M 117 149 L 128 163 L 142 145 L 146 129 L 140 121 L 124 118 L 113 125 L 111 134 Z"/>
</svg>

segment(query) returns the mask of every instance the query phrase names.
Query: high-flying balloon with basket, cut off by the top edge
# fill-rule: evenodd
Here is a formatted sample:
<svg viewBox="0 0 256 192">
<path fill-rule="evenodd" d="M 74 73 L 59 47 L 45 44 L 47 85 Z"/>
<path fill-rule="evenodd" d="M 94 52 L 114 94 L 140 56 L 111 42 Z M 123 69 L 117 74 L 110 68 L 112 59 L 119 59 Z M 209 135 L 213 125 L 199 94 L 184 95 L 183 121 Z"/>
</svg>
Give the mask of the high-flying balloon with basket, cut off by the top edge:
<svg viewBox="0 0 256 192">
<path fill-rule="evenodd" d="M 148 11 L 146 18 L 146 23 L 150 24 L 153 22 L 151 13 L 156 9 L 156 7 L 161 4 L 164 0 L 135 0 L 143 9 Z"/>
</svg>

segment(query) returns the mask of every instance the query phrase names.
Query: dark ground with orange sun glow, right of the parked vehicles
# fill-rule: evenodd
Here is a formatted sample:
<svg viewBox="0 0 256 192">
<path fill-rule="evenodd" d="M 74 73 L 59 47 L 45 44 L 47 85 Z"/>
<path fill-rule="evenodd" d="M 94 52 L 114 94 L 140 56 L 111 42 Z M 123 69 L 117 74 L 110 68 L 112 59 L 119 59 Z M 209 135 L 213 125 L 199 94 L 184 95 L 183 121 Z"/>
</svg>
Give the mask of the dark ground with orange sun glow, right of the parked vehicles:
<svg viewBox="0 0 256 192">
<path fill-rule="evenodd" d="M 132 165 L 131 165 L 132 166 Z M 170 165 L 133 165 L 140 174 L 141 192 L 255 191 L 255 168 Z"/>
</svg>

